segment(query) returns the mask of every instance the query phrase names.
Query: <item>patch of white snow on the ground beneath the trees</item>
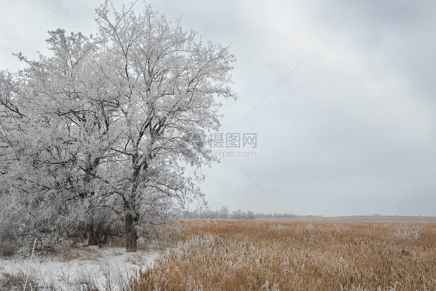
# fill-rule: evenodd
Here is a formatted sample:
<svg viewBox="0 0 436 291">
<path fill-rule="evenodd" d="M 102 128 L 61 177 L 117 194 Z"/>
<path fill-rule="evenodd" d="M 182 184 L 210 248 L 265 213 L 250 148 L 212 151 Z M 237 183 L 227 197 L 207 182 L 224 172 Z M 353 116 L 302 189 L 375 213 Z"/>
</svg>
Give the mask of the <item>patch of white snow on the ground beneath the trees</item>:
<svg viewBox="0 0 436 291">
<path fill-rule="evenodd" d="M 5 276 L 28 278 L 39 289 L 127 289 L 141 266 L 153 265 L 161 251 L 126 253 L 123 247 L 97 246 L 67 249 L 53 258 L 0 259 L 0 280 Z M 2 278 L 3 277 L 3 278 Z M 27 284 L 29 284 L 27 283 Z"/>
</svg>

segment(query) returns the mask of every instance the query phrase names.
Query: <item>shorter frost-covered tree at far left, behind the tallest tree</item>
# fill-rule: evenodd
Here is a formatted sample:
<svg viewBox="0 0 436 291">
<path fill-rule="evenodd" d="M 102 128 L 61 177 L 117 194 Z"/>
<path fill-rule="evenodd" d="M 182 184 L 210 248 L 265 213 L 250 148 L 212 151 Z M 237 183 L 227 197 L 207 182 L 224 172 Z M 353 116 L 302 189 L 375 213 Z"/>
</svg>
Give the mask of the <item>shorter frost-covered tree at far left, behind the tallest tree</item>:
<svg viewBox="0 0 436 291">
<path fill-rule="evenodd" d="M 49 33 L 52 56 L 31 61 L 20 54 L 28 67 L 0 76 L 2 179 L 15 190 L 14 196 L 21 194 L 28 213 L 38 213 L 43 232 L 69 231 L 83 223 L 89 243 L 97 243 L 93 210 L 105 202 L 101 194 L 107 194 L 107 181 L 96 170 L 110 155 L 104 119 L 110 106 L 89 62 L 95 45 L 81 33 Z M 48 227 L 42 227 L 45 221 Z"/>
</svg>

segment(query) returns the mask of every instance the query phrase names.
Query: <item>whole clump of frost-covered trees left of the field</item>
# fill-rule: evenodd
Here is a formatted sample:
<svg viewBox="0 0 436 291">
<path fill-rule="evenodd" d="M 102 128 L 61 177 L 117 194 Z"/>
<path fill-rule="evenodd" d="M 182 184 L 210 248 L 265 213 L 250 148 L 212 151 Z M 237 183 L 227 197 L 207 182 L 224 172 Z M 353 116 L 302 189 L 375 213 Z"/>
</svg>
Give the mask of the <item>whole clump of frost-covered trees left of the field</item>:
<svg viewBox="0 0 436 291">
<path fill-rule="evenodd" d="M 94 37 L 50 32 L 52 55 L 20 54 L 28 67 L 2 72 L 0 179 L 26 203 L 35 193 L 50 217 L 76 217 L 90 243 L 104 240 L 94 213 L 112 211 L 135 251 L 142 229 L 203 198 L 201 171 L 185 166 L 217 160 L 205 141 L 220 127 L 218 98 L 235 98 L 234 57 L 150 6 L 106 1 L 96 22 Z"/>
</svg>

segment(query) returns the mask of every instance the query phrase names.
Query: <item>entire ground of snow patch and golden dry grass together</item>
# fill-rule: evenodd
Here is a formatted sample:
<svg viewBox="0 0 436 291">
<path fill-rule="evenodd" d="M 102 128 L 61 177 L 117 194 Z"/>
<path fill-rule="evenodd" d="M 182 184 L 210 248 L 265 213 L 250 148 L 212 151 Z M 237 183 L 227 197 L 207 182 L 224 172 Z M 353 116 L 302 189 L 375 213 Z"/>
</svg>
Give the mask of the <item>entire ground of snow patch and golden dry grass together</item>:
<svg viewBox="0 0 436 291">
<path fill-rule="evenodd" d="M 167 244 L 3 259 L 0 289 L 435 290 L 434 217 L 184 220 Z"/>
</svg>

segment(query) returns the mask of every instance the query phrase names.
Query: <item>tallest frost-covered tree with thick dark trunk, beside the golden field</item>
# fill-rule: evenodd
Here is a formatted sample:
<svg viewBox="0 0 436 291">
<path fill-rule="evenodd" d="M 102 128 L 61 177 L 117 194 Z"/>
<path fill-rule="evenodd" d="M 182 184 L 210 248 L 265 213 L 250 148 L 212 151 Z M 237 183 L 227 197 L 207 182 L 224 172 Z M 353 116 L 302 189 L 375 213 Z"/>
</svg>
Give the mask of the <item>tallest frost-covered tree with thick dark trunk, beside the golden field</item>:
<svg viewBox="0 0 436 291">
<path fill-rule="evenodd" d="M 120 185 L 131 251 L 144 216 L 165 213 L 169 202 L 183 205 L 189 196 L 203 196 L 198 177 L 186 177 L 184 165 L 216 160 L 202 140 L 220 126 L 217 97 L 235 97 L 229 87 L 234 57 L 150 6 L 135 15 L 106 2 L 96 13 L 101 73 L 119 93 L 112 178 Z"/>
</svg>

